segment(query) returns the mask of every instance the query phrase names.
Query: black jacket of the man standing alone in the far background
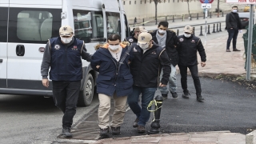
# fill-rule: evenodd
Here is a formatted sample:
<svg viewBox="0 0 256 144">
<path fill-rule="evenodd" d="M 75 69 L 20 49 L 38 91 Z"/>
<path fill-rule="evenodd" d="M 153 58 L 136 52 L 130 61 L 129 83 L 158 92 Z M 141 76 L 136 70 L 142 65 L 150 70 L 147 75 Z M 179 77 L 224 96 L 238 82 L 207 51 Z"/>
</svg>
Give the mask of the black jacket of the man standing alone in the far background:
<svg viewBox="0 0 256 144">
<path fill-rule="evenodd" d="M 238 13 L 231 12 L 229 14 L 226 14 L 226 29 L 230 29 L 230 28 L 237 29 L 237 30 L 242 29 L 242 23 Z"/>
</svg>

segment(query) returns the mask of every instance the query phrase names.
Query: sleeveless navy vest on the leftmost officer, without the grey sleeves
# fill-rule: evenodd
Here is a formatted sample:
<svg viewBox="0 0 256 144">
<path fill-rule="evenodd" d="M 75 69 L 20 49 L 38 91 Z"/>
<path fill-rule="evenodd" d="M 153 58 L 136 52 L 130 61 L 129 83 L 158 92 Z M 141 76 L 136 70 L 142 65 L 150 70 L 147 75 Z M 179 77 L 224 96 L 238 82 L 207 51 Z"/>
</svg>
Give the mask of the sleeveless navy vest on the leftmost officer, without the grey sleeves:
<svg viewBox="0 0 256 144">
<path fill-rule="evenodd" d="M 82 79 L 81 51 L 84 42 L 74 38 L 70 45 L 61 39 L 50 38 L 50 79 L 53 81 L 80 81 Z"/>
</svg>

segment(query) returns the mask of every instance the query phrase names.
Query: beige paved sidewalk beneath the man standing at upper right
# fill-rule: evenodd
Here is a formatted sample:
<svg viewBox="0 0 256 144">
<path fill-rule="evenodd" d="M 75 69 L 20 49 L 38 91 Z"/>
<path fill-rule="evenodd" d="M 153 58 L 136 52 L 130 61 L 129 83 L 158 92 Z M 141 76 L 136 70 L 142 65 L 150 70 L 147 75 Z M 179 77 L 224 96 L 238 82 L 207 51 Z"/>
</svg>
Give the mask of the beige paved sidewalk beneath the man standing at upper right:
<svg viewBox="0 0 256 144">
<path fill-rule="evenodd" d="M 244 30 L 245 31 L 245 30 Z M 226 52 L 226 40 L 228 38 L 226 30 L 222 33 L 226 33 L 226 36 L 208 40 L 206 50 L 206 66 L 201 67 L 198 65 L 198 71 L 200 76 L 208 76 L 214 78 L 219 74 L 224 75 L 242 75 L 246 74 L 245 58 L 244 55 L 244 42 L 242 34 L 238 34 L 237 48 L 241 51 L 232 51 L 232 44 L 230 46 L 231 52 Z M 198 55 L 198 62 L 200 62 L 200 56 Z"/>
</svg>

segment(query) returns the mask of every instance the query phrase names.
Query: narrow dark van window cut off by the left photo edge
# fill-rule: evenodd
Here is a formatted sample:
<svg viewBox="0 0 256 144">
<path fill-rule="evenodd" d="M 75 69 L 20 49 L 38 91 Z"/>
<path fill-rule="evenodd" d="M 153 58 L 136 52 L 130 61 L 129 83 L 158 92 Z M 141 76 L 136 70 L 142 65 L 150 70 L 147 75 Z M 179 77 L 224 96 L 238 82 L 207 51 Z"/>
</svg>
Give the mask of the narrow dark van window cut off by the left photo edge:
<svg viewBox="0 0 256 144">
<path fill-rule="evenodd" d="M 0 42 L 7 42 L 8 8 L 0 7 Z"/>
</svg>

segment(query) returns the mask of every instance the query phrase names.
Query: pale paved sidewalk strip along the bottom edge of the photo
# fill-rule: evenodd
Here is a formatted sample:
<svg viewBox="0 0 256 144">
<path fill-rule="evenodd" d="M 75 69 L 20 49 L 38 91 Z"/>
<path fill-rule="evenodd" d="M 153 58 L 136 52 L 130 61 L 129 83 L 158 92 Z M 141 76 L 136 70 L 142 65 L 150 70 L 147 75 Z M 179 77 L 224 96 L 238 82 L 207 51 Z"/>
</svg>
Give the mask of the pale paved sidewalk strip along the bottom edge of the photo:
<svg viewBox="0 0 256 144">
<path fill-rule="evenodd" d="M 230 131 L 158 134 L 143 137 L 108 138 L 94 144 L 246 144 L 246 136 Z"/>
</svg>

